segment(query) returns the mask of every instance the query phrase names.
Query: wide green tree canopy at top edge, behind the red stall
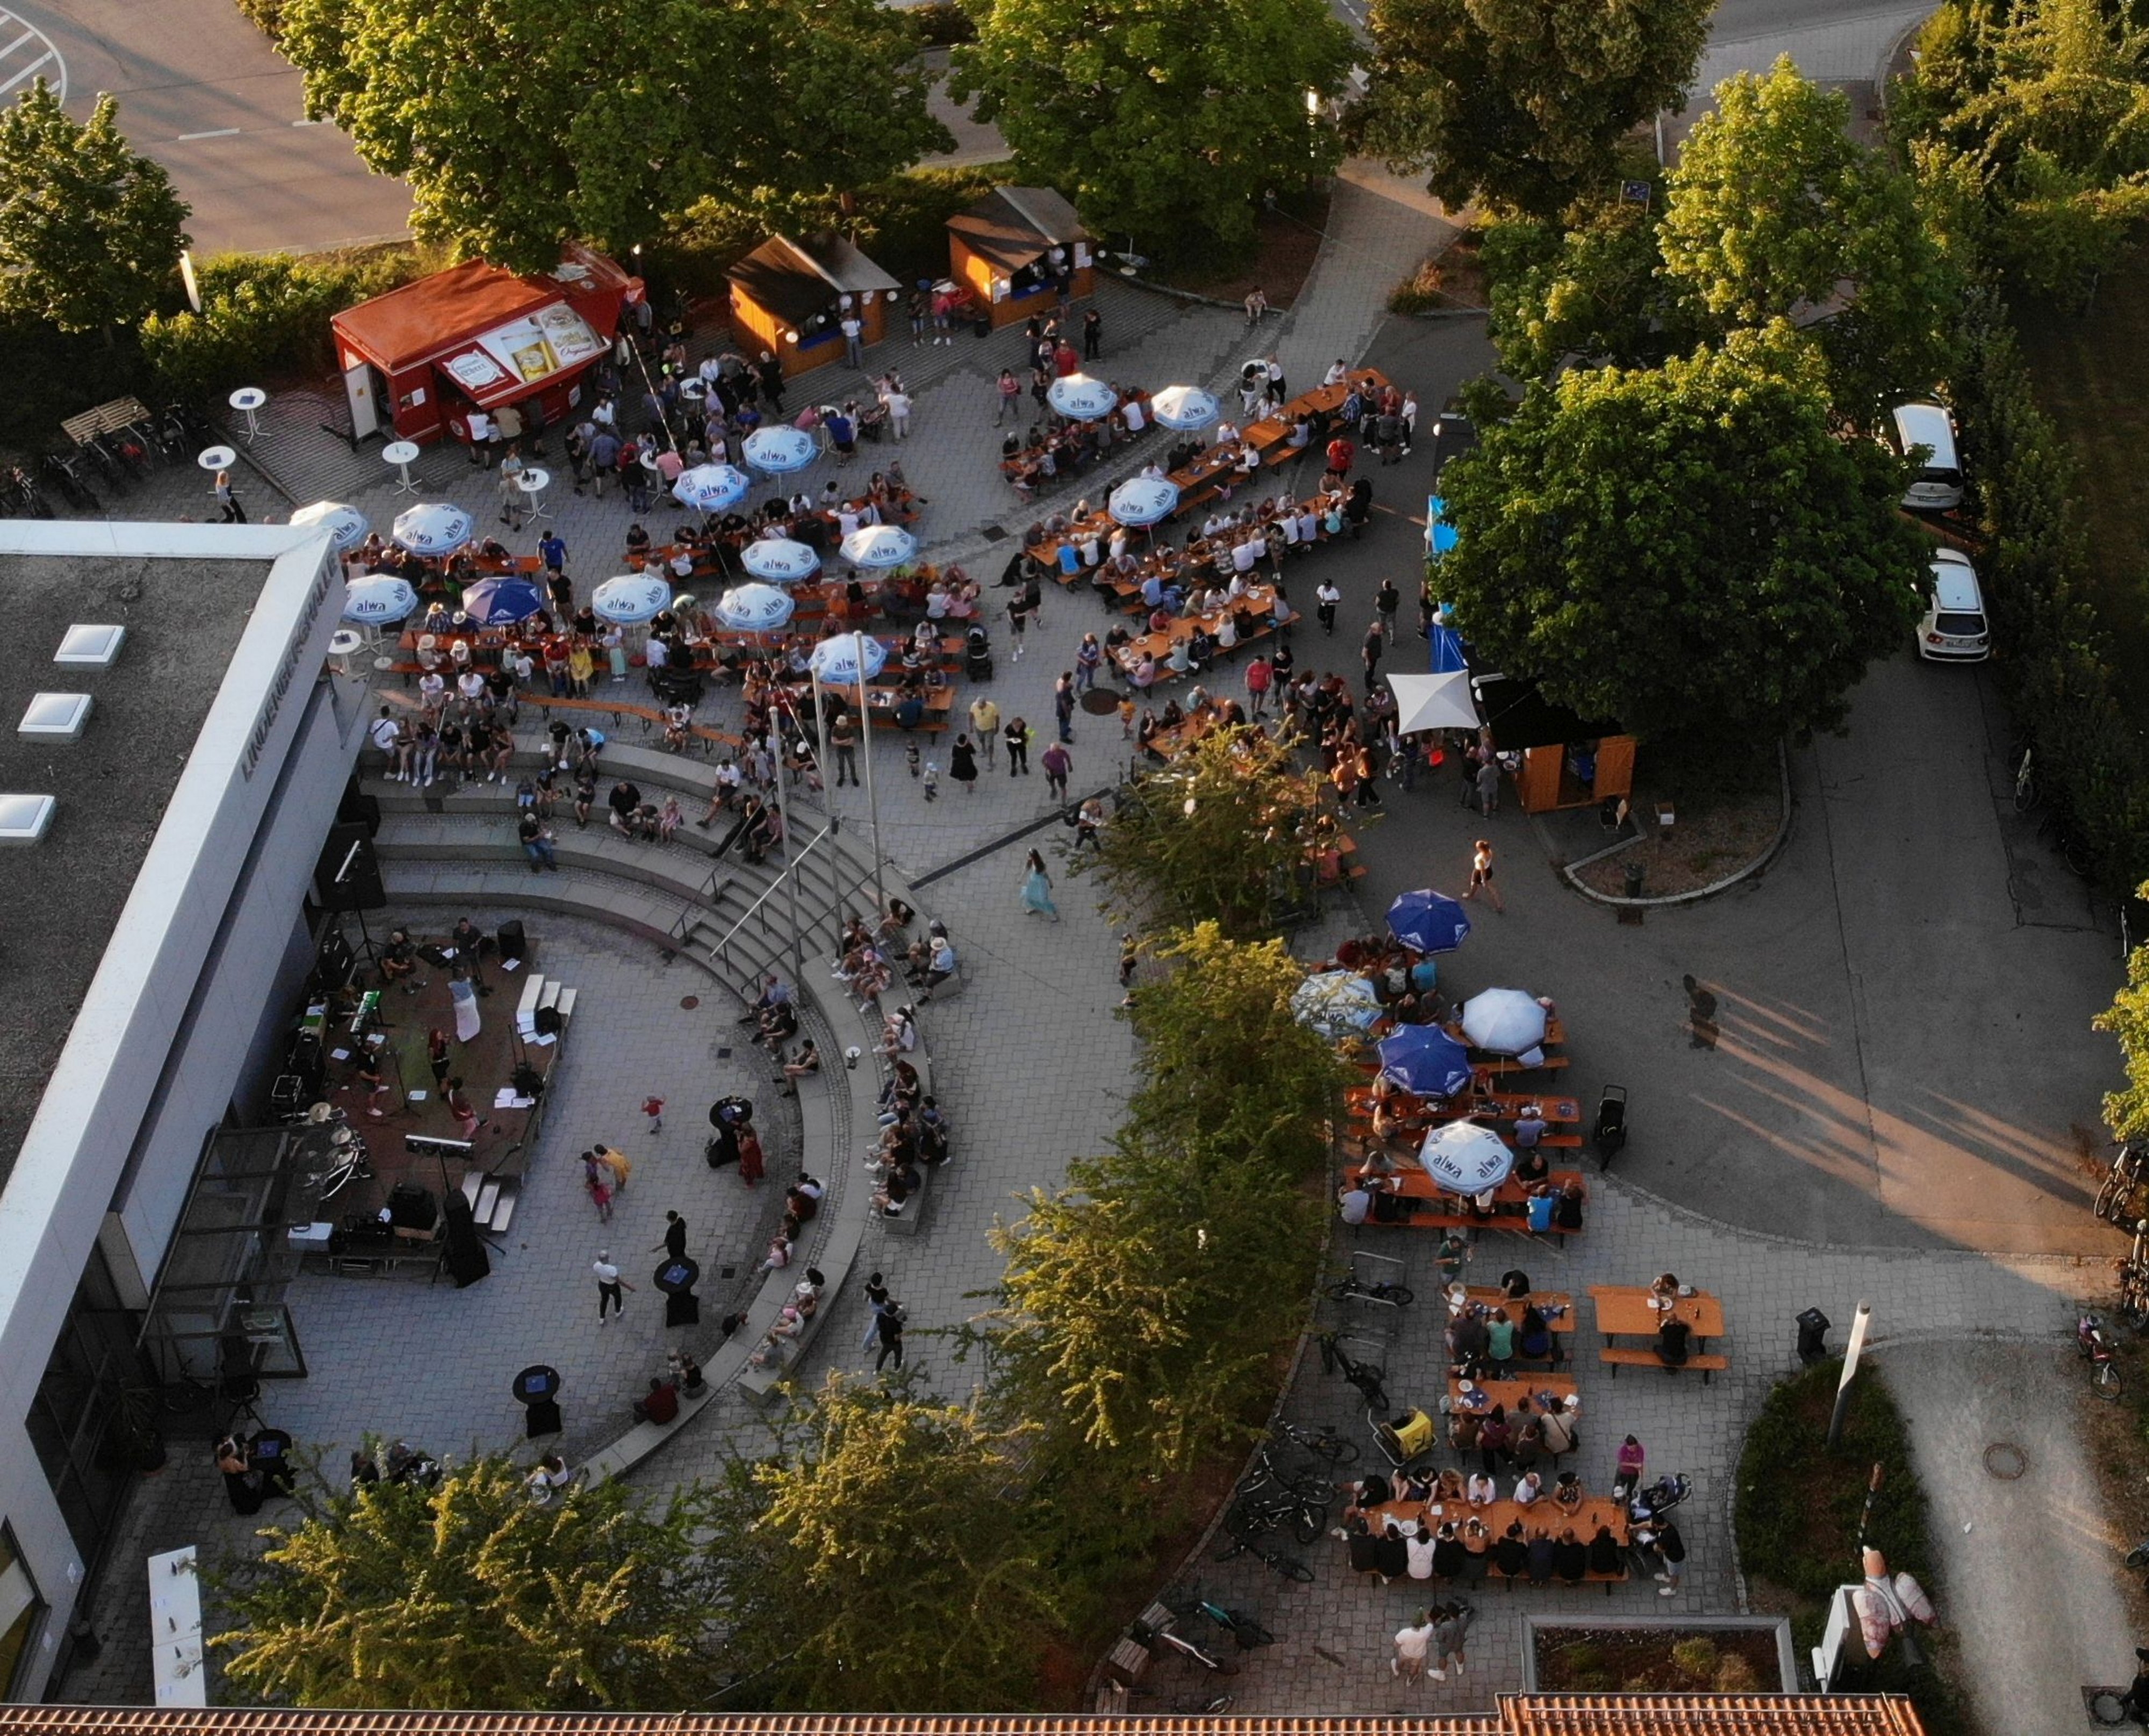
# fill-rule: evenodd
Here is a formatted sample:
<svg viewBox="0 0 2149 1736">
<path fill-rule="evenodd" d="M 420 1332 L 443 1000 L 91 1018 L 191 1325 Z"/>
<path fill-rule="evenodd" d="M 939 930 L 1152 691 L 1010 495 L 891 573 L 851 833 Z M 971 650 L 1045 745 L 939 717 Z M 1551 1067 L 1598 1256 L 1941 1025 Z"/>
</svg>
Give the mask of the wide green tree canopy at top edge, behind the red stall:
<svg viewBox="0 0 2149 1736">
<path fill-rule="evenodd" d="M 703 198 L 780 217 L 952 146 L 872 0 L 290 0 L 307 110 L 410 180 L 413 230 L 516 271 Z M 653 45 L 662 45 L 655 52 Z"/>
</svg>

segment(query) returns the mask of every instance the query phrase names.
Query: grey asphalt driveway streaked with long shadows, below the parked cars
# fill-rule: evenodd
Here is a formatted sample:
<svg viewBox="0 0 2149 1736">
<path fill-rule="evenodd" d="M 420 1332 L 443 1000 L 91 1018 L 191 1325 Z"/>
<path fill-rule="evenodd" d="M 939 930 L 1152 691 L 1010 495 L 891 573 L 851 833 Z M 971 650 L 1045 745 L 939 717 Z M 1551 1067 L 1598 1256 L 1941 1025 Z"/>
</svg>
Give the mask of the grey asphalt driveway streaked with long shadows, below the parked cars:
<svg viewBox="0 0 2149 1736">
<path fill-rule="evenodd" d="M 1369 361 L 1427 410 L 1491 361 L 1474 322 L 1390 320 Z M 1371 473 L 1380 511 L 1339 563 L 1337 636 L 1300 630 L 1300 666 L 1360 681 L 1371 593 L 1405 595 L 1423 548 L 1429 449 Z M 1408 614 L 1408 610 L 1405 610 Z M 1405 636 L 1388 668 L 1425 668 Z M 1973 668 L 1908 647 L 1872 668 L 1850 728 L 1790 756 L 1794 810 L 1760 879 L 1640 926 L 1552 866 L 1605 838 L 1592 812 L 1489 823 L 1457 786 L 1354 827 L 1371 920 L 1418 885 L 1459 892 L 1489 836 L 1506 915 L 1481 909 L 1442 984 L 1552 995 L 1588 1111 L 1631 1091 L 1620 1173 L 1747 1229 L 1827 1244 L 2110 1250 L 2085 1154 L 2117 1046 L 2089 1018 L 2121 980 L 2108 913 L 2016 819 L 2005 722 Z M 1640 847 L 1644 853 L 1653 844 Z M 1711 1016 L 1698 1031 L 1696 999 Z"/>
</svg>

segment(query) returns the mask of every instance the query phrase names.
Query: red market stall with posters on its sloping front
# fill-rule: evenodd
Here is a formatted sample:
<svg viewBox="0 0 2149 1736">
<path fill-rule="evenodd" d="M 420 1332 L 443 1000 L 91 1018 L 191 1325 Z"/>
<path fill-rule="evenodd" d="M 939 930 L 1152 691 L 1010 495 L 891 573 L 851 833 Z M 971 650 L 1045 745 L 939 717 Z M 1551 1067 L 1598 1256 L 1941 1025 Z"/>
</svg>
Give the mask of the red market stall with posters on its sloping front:
<svg viewBox="0 0 2149 1736">
<path fill-rule="evenodd" d="M 468 438 L 468 413 L 522 408 L 559 421 L 610 350 L 643 279 L 574 243 L 559 266 L 518 277 L 484 260 L 436 271 L 331 316 L 357 438 Z"/>
</svg>

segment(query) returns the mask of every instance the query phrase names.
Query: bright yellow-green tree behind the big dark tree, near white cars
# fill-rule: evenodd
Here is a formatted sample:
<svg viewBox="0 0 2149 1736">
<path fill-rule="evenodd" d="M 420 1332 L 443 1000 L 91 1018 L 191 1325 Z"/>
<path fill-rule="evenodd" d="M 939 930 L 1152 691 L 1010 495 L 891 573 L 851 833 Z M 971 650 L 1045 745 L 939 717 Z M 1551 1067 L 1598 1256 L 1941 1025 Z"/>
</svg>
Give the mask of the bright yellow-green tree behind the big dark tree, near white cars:
<svg viewBox="0 0 2149 1736">
<path fill-rule="evenodd" d="M 1784 56 L 1736 73 L 1687 135 L 1657 243 L 1719 331 L 1814 316 L 1837 408 L 1865 423 L 1932 385 L 1960 290 L 1908 178 L 1844 129 L 1850 103 Z"/>
</svg>

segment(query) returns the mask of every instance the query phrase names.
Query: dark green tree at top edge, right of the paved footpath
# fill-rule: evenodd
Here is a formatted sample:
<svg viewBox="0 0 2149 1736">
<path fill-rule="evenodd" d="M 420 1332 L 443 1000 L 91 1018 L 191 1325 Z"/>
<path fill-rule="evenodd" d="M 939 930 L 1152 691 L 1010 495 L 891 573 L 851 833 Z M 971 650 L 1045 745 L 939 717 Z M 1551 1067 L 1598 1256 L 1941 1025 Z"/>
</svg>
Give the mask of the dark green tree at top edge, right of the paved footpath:
<svg viewBox="0 0 2149 1736">
<path fill-rule="evenodd" d="M 1365 135 L 1448 204 L 1556 217 L 1685 103 L 1715 0 L 1373 0 Z"/>
</svg>

